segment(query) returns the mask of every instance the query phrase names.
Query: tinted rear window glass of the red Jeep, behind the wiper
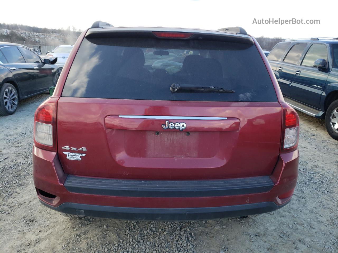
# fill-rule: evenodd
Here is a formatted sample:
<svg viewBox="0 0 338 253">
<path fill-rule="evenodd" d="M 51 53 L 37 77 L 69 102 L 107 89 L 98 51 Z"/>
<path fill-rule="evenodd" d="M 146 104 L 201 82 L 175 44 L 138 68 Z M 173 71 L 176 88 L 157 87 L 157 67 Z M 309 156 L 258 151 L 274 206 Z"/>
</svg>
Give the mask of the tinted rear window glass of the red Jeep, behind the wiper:
<svg viewBox="0 0 338 253">
<path fill-rule="evenodd" d="M 214 86 L 235 92 L 171 92 L 172 83 Z M 277 101 L 255 45 L 152 38 L 85 38 L 62 95 L 171 101 Z"/>
</svg>

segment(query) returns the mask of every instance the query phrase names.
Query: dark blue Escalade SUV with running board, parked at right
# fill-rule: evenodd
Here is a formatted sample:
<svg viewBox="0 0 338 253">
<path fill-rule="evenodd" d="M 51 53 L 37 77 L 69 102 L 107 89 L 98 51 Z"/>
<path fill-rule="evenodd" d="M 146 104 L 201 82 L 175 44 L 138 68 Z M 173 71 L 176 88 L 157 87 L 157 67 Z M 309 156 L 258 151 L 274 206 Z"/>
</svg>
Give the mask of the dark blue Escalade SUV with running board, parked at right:
<svg viewBox="0 0 338 253">
<path fill-rule="evenodd" d="M 325 118 L 338 140 L 338 38 L 288 39 L 268 60 L 285 102 L 316 118 Z"/>
</svg>

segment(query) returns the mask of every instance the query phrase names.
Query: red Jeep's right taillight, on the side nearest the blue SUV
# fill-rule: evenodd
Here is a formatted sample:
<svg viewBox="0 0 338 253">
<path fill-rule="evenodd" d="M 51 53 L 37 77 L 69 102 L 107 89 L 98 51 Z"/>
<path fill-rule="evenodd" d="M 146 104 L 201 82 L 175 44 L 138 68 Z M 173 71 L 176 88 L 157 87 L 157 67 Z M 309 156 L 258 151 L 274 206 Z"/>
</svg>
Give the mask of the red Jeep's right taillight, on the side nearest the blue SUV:
<svg viewBox="0 0 338 253">
<path fill-rule="evenodd" d="M 281 150 L 289 152 L 297 149 L 299 139 L 299 117 L 291 108 L 283 108 L 283 128 Z"/>
</svg>

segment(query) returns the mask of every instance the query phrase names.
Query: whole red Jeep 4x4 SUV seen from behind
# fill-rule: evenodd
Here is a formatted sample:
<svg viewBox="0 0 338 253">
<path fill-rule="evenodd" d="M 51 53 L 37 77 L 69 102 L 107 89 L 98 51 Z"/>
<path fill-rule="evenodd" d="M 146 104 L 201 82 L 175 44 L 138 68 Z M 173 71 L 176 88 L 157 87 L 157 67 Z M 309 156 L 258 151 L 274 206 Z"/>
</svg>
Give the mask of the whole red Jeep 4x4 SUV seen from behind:
<svg viewBox="0 0 338 253">
<path fill-rule="evenodd" d="M 33 177 L 66 216 L 201 220 L 292 197 L 299 118 L 240 27 L 97 21 L 34 117 Z"/>
</svg>

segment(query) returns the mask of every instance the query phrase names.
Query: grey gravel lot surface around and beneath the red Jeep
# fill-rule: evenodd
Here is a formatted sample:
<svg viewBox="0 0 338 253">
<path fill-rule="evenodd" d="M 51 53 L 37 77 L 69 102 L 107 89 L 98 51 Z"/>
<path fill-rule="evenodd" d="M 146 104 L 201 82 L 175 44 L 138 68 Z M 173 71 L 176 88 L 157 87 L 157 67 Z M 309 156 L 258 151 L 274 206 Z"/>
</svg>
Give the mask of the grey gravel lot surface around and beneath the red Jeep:
<svg viewBox="0 0 338 253">
<path fill-rule="evenodd" d="M 338 252 L 338 142 L 299 112 L 298 185 L 290 204 L 244 220 L 130 222 L 66 218 L 42 206 L 32 129 L 47 94 L 0 116 L 0 252 Z"/>
</svg>

